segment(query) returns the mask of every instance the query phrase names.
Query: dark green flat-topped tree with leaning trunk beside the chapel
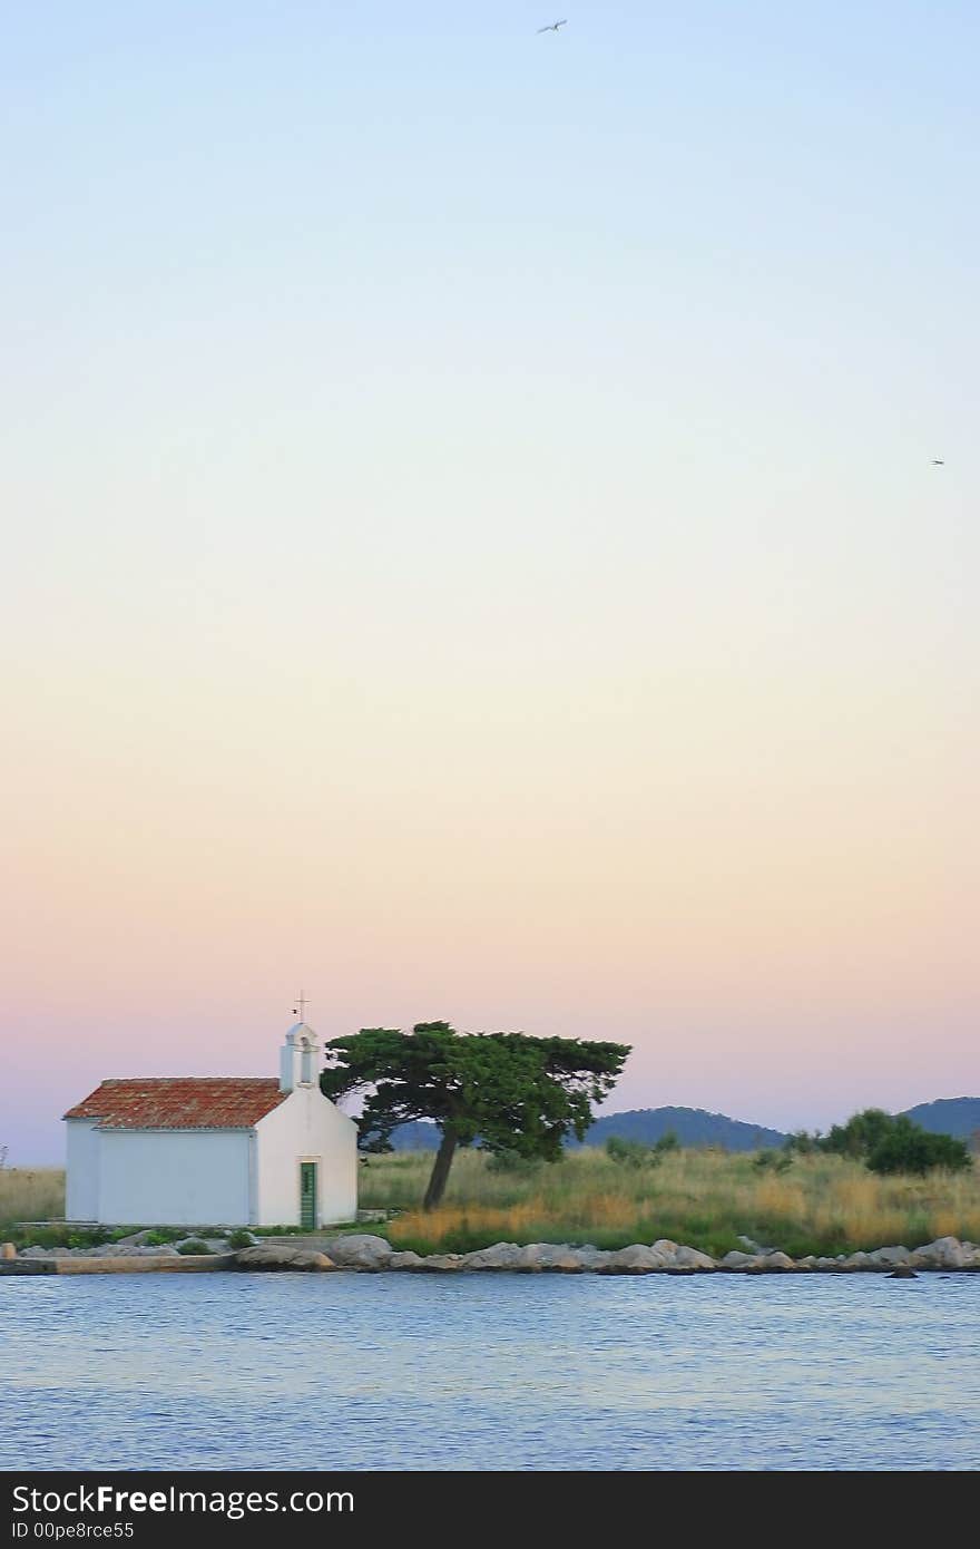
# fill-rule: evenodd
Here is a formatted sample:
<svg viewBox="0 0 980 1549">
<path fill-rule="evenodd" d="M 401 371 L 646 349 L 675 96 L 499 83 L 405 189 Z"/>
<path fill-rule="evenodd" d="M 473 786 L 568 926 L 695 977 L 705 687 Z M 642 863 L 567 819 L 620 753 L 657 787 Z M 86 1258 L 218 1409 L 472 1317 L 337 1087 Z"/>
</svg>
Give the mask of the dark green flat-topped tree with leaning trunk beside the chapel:
<svg viewBox="0 0 980 1549">
<path fill-rule="evenodd" d="M 630 1049 L 581 1038 L 458 1033 L 449 1022 L 416 1022 L 410 1033 L 365 1027 L 327 1044 L 320 1087 L 331 1100 L 368 1092 L 361 1146 L 390 1151 L 392 1131 L 432 1118 L 441 1143 L 426 1191 L 432 1210 L 446 1190 L 457 1146 L 554 1162 L 593 1121 L 591 1104 L 612 1092 Z"/>
</svg>

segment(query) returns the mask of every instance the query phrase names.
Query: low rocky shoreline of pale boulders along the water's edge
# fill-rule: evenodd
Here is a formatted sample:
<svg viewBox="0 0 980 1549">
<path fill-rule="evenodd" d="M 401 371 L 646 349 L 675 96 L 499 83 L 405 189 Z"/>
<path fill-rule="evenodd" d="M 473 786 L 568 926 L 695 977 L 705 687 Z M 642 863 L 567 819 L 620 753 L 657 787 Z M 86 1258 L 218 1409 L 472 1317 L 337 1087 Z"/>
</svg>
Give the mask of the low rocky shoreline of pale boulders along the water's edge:
<svg viewBox="0 0 980 1549">
<path fill-rule="evenodd" d="M 94 1248 L 25 1248 L 17 1253 L 0 1244 L 0 1273 L 133 1273 L 150 1270 L 355 1270 L 367 1273 L 553 1273 L 553 1275 L 813 1275 L 886 1273 L 910 1279 L 920 1270 L 980 1272 L 980 1245 L 958 1238 L 937 1238 L 918 1248 L 884 1247 L 872 1253 L 841 1253 L 836 1258 L 807 1255 L 791 1259 L 779 1248 L 748 1244 L 715 1259 L 698 1248 L 658 1238 L 633 1242 L 625 1248 L 598 1248 L 590 1244 L 495 1242 L 474 1253 L 399 1252 L 385 1238 L 370 1233 L 341 1233 L 311 1242 L 255 1241 L 251 1247 L 228 1252 L 226 1244 L 207 1242 L 207 1255 L 180 1253 L 180 1244 L 166 1247 L 138 1241 Z"/>
</svg>

